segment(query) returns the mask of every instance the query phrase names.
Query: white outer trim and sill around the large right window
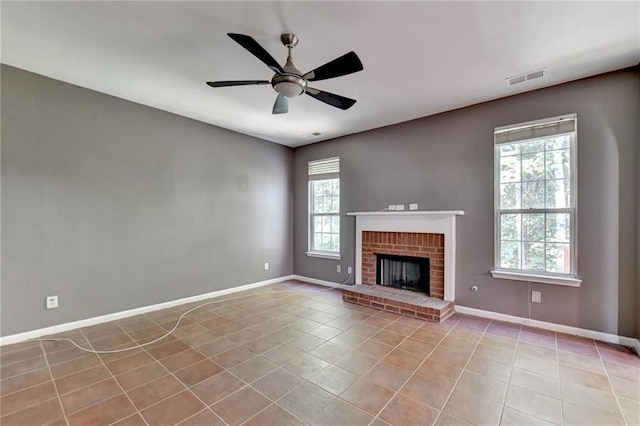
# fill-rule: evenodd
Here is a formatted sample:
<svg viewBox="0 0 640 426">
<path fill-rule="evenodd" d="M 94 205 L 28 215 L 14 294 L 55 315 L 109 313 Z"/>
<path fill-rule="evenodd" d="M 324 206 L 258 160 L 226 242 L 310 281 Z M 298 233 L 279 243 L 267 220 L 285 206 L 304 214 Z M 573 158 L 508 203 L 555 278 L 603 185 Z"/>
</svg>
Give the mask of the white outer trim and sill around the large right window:
<svg viewBox="0 0 640 426">
<path fill-rule="evenodd" d="M 515 280 L 515 281 L 527 281 L 541 284 L 553 284 L 568 287 L 580 287 L 582 280 L 577 276 L 578 273 L 578 242 L 577 242 L 577 230 L 578 230 L 578 195 L 577 195 L 577 182 L 578 182 L 578 120 L 577 114 L 567 114 L 558 117 L 550 117 L 541 120 L 529 121 L 526 123 L 513 124 L 508 126 L 496 127 L 494 129 L 494 135 L 496 132 L 505 129 L 516 129 L 523 127 L 535 126 L 543 123 L 550 123 L 554 121 L 562 121 L 571 119 L 575 121 L 575 129 L 573 131 L 573 137 L 571 138 L 571 196 L 573 198 L 573 215 L 571 217 L 571 265 L 572 271 L 570 274 L 552 274 L 552 273 L 540 273 L 529 272 L 525 270 L 512 270 L 502 269 L 498 267 L 500 260 L 500 227 L 498 221 L 500 218 L 500 169 L 497 167 L 500 158 L 496 147 L 499 144 L 494 142 L 494 269 L 490 271 L 493 278 Z M 546 210 L 546 209 L 543 209 Z M 517 212 L 517 211 L 515 211 Z"/>
</svg>

